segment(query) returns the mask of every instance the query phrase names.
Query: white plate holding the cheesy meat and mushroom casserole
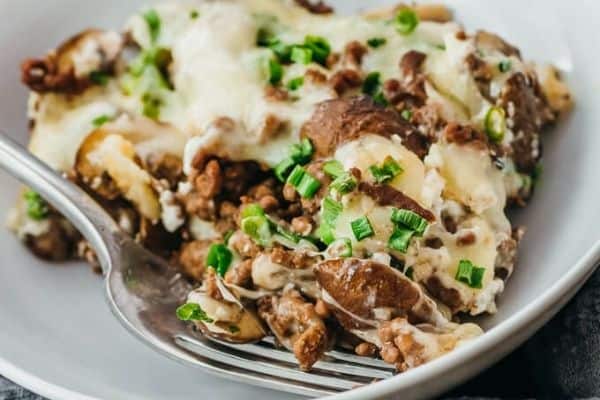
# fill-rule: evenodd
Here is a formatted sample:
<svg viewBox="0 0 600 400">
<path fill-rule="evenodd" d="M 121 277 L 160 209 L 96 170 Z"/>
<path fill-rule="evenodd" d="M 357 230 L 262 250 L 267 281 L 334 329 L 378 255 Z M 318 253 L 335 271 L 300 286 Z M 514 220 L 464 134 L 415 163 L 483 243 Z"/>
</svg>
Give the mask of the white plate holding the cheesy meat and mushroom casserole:
<svg viewBox="0 0 600 400">
<path fill-rule="evenodd" d="M 389 1 L 386 1 L 389 2 Z M 0 129 L 26 140 L 26 91 L 18 64 L 89 26 L 120 27 L 144 1 L 0 0 Z M 383 1 L 337 1 L 344 11 Z M 545 172 L 521 257 L 489 331 L 424 367 L 339 399 L 432 396 L 512 350 L 562 306 L 600 257 L 600 3 L 454 0 L 469 29 L 498 32 L 526 58 L 563 69 L 577 108 L 545 140 Z M 0 210 L 17 185 L 0 175 Z M 0 230 L 0 374 L 51 399 L 287 399 L 291 395 L 215 378 L 137 342 L 114 320 L 102 282 L 78 264 L 47 265 Z"/>
</svg>

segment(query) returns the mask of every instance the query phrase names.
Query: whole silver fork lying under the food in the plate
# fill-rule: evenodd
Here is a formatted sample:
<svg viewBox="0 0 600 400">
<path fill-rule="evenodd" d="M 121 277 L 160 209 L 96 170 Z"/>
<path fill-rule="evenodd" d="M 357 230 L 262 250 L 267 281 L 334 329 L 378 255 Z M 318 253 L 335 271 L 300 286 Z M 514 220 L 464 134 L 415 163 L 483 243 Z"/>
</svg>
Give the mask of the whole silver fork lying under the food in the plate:
<svg viewBox="0 0 600 400">
<path fill-rule="evenodd" d="M 142 342 L 183 363 L 221 377 L 309 396 L 322 396 L 393 375 L 381 360 L 330 351 L 311 372 L 271 338 L 230 344 L 179 321 L 175 309 L 190 284 L 163 259 L 137 244 L 83 190 L 0 133 L 0 167 L 40 193 L 90 242 L 105 276 L 108 304 Z"/>
</svg>

